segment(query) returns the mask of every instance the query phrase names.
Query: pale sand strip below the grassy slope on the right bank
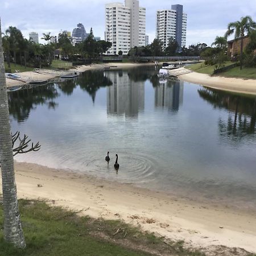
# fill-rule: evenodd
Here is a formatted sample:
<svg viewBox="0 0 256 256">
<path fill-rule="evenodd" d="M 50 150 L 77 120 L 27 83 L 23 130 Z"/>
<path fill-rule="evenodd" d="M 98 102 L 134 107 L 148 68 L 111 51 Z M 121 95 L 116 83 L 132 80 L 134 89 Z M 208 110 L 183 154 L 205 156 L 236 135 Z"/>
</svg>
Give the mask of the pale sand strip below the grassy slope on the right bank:
<svg viewBox="0 0 256 256">
<path fill-rule="evenodd" d="M 210 88 L 228 90 L 230 92 L 256 94 L 256 80 L 232 77 L 209 76 L 207 74 L 191 72 L 179 75 L 179 79 Z"/>
</svg>

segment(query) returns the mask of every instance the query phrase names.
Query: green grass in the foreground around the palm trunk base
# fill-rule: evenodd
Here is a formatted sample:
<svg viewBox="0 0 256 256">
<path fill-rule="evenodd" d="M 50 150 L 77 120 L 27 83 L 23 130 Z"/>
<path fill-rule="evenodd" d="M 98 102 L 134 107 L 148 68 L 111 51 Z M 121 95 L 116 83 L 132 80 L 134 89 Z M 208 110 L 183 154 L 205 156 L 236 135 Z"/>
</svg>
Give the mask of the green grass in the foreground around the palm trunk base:
<svg viewBox="0 0 256 256">
<path fill-rule="evenodd" d="M 79 217 L 75 212 L 50 207 L 44 201 L 19 200 L 26 249 L 3 240 L 0 206 L 0 255 L 204 255 L 184 249 L 183 241 L 164 241 L 118 220 Z M 119 232 L 117 232 L 119 230 Z"/>
</svg>

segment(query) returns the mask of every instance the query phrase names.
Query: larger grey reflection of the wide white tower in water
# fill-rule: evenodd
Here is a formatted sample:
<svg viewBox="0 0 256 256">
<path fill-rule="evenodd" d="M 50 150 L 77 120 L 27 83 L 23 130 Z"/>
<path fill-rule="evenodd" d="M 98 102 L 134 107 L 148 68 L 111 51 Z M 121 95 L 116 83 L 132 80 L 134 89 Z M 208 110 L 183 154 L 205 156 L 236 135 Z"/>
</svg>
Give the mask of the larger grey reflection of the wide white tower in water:
<svg viewBox="0 0 256 256">
<path fill-rule="evenodd" d="M 126 71 L 105 72 L 113 85 L 107 89 L 107 113 L 125 114 L 126 118 L 138 118 L 144 110 L 144 81 L 129 79 Z"/>
</svg>

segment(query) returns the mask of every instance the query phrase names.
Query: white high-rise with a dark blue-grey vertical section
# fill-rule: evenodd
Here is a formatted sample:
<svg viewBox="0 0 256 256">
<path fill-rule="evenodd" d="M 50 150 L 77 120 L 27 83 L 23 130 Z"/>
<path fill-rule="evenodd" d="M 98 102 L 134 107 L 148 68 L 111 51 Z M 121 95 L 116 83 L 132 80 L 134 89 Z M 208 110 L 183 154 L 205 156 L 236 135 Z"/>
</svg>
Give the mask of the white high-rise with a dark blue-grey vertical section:
<svg viewBox="0 0 256 256">
<path fill-rule="evenodd" d="M 168 46 L 168 39 L 174 38 L 179 44 L 179 50 L 186 44 L 187 14 L 183 13 L 182 5 L 172 5 L 171 10 L 156 12 L 156 38 L 160 39 L 164 47 Z"/>
</svg>

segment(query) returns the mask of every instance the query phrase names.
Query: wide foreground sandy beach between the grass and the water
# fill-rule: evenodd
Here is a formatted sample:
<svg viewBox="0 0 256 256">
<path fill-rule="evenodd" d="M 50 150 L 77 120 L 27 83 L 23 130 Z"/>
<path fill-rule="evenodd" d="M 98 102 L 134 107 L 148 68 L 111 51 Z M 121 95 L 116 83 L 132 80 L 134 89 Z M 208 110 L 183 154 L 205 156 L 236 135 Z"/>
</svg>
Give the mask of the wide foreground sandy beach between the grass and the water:
<svg viewBox="0 0 256 256">
<path fill-rule="evenodd" d="M 256 252 L 255 212 L 179 199 L 37 164 L 15 163 L 15 174 L 19 198 L 48 199 L 92 217 L 122 219 L 184 240 L 188 246 L 225 245 Z"/>
</svg>

